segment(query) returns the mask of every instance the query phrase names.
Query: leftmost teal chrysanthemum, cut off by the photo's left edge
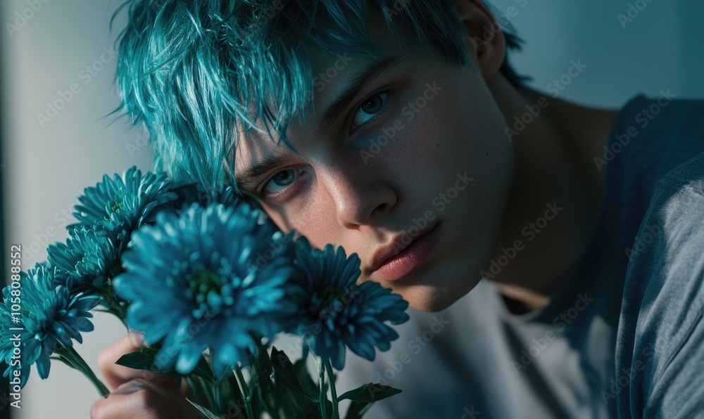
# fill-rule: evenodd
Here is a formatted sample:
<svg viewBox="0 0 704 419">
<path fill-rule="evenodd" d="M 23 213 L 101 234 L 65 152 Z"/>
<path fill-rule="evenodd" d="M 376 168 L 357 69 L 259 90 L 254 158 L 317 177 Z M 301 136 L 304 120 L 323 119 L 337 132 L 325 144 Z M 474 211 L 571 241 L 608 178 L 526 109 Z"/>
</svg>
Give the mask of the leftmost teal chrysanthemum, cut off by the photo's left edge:
<svg viewBox="0 0 704 419">
<path fill-rule="evenodd" d="M 49 377 L 49 356 L 61 349 L 59 343 L 65 347 L 73 346 L 74 339 L 82 343 L 80 333 L 93 330 L 93 324 L 88 320 L 93 315 L 88 310 L 96 307 L 100 297 L 72 295 L 69 287 L 55 285 L 56 276 L 61 276 L 58 269 L 36 264 L 33 269 L 20 273 L 19 292 L 10 285 L 3 289 L 0 359 L 8 364 L 4 373 L 8 377 L 18 366 L 17 352 L 20 352 L 20 387 L 25 386 L 34 363 L 37 364 L 39 377 Z M 16 311 L 18 308 L 20 310 Z M 17 312 L 19 316 L 13 314 Z M 13 321 L 13 317 L 18 322 Z M 20 345 L 18 349 L 15 349 L 15 344 Z"/>
</svg>

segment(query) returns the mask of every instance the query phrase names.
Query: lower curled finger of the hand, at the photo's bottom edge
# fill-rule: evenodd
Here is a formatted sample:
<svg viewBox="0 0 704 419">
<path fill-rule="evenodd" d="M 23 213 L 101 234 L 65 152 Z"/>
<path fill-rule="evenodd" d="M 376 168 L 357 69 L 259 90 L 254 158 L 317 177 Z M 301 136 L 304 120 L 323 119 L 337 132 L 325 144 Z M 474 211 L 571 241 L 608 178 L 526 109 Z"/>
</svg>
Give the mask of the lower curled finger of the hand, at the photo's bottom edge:
<svg viewBox="0 0 704 419">
<path fill-rule="evenodd" d="M 92 419 L 198 419 L 199 413 L 183 397 L 146 380 L 120 385 L 91 407 Z"/>
</svg>

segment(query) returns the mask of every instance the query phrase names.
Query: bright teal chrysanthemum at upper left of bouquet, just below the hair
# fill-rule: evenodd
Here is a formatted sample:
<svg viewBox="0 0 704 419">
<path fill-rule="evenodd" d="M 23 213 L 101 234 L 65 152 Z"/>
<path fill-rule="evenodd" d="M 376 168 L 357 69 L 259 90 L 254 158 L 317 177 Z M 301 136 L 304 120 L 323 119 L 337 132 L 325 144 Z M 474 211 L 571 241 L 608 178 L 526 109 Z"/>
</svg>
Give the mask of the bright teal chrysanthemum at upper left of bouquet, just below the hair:
<svg viewBox="0 0 704 419">
<path fill-rule="evenodd" d="M 170 191 L 172 182 L 165 173 L 142 172 L 137 166 L 127 169 L 122 177 L 115 174 L 113 179 L 106 174 L 96 186 L 85 188 L 84 195 L 78 197 L 73 215 L 78 223 L 66 228 L 105 228 L 111 233 L 120 248 L 130 240 L 130 233 L 153 221 L 156 212 L 177 195 Z"/>
</svg>

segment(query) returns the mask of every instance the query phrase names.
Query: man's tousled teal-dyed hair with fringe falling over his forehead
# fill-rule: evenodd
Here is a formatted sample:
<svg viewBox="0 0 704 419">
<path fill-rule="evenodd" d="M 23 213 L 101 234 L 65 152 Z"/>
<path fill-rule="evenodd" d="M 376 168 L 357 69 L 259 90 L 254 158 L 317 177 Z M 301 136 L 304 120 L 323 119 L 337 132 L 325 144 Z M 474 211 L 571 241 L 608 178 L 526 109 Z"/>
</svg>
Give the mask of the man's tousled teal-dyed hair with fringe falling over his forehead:
<svg viewBox="0 0 704 419">
<path fill-rule="evenodd" d="M 154 169 L 177 182 L 236 187 L 238 134 L 285 136 L 310 102 L 313 75 L 301 41 L 322 51 L 375 56 L 367 16 L 380 11 L 394 36 L 410 30 L 424 51 L 469 62 L 453 0 L 130 0 L 118 35 L 115 75 L 122 101 L 113 114 L 144 124 Z M 112 22 L 111 22 L 112 25 Z M 507 33 L 509 49 L 519 39 Z M 501 72 L 520 86 L 505 60 Z M 258 128 L 261 124 L 264 128 Z M 225 162 L 230 169 L 226 169 Z"/>
</svg>

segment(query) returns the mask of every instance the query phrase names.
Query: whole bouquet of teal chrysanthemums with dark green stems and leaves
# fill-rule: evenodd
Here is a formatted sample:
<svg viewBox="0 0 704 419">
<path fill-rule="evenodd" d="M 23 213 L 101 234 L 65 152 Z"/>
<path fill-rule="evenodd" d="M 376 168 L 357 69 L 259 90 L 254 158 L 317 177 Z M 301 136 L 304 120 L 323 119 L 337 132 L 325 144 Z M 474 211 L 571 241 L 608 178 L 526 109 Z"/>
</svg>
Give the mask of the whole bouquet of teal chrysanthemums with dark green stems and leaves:
<svg viewBox="0 0 704 419">
<path fill-rule="evenodd" d="M 48 262 L 12 266 L 3 290 L 0 359 L 15 389 L 32 365 L 47 378 L 54 359 L 109 394 L 73 346 L 93 330 L 91 311 L 106 311 L 147 345 L 118 363 L 177 374 L 205 418 L 337 419 L 344 399 L 346 418 L 360 418 L 400 392 L 335 387 L 346 348 L 373 360 L 398 338 L 387 323 L 408 320 L 400 295 L 356 283 L 357 254 L 283 234 L 231 188 L 175 186 L 137 167 L 103 176 L 78 201 L 70 238 L 48 247 Z M 279 333 L 303 339 L 302 359 L 272 347 Z"/>
</svg>

